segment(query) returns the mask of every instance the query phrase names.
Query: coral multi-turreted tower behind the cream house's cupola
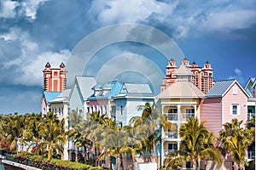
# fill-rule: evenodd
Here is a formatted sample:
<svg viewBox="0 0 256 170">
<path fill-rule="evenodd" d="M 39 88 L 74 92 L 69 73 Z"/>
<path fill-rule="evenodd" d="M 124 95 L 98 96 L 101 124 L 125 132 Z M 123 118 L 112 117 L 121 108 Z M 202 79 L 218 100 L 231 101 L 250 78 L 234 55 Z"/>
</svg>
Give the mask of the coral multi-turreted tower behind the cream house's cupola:
<svg viewBox="0 0 256 170">
<path fill-rule="evenodd" d="M 189 65 L 189 59 L 185 58 L 182 61 L 182 65 L 188 67 L 193 73 L 191 82 L 193 82 L 197 88 L 201 89 L 204 94 L 207 94 L 207 92 L 214 85 L 214 81 L 212 78 L 213 69 L 211 67 L 211 64 L 207 61 L 202 68 L 198 66 L 195 62 L 193 62 L 192 65 Z M 176 71 L 177 66 L 175 65 L 175 61 L 174 59 L 171 59 L 166 66 L 166 77 L 163 79 L 163 85 L 160 86 L 161 91 L 177 81 L 177 77 L 175 76 Z"/>
</svg>

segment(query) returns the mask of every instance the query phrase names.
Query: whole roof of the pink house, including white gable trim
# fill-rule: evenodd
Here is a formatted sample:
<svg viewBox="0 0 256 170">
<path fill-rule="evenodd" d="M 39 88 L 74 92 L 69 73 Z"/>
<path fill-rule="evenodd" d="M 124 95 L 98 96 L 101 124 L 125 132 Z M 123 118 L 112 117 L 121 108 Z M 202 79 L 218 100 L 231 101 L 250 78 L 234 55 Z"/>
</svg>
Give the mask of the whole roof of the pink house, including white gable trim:
<svg viewBox="0 0 256 170">
<path fill-rule="evenodd" d="M 241 84 L 235 79 L 215 82 L 215 85 L 209 90 L 209 92 L 206 94 L 206 97 L 223 97 L 235 83 L 237 83 L 243 93 L 249 97 L 246 91 L 241 87 Z"/>
</svg>

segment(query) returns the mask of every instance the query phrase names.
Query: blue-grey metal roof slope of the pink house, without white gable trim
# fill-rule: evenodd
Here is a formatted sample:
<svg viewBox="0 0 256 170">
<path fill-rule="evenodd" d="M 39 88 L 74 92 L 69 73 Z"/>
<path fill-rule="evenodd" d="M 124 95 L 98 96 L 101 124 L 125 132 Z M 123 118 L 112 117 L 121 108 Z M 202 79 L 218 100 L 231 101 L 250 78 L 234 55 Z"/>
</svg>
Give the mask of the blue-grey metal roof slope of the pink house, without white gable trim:
<svg viewBox="0 0 256 170">
<path fill-rule="evenodd" d="M 206 97 L 222 97 L 235 81 L 236 80 L 232 79 L 216 82 L 215 85 L 206 94 Z"/>
</svg>

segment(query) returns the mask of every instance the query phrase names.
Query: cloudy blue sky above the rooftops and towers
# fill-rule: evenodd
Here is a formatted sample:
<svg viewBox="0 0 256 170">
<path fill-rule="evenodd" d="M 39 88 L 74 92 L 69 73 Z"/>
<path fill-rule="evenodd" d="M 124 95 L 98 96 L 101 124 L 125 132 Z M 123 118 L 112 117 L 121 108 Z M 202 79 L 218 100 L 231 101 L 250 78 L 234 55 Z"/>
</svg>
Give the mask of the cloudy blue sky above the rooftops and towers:
<svg viewBox="0 0 256 170">
<path fill-rule="evenodd" d="M 255 44 L 255 0 L 1 0 L 0 113 L 40 112 L 47 62 L 67 65 L 67 88 L 75 75 L 158 86 L 183 57 L 244 86 Z"/>
</svg>

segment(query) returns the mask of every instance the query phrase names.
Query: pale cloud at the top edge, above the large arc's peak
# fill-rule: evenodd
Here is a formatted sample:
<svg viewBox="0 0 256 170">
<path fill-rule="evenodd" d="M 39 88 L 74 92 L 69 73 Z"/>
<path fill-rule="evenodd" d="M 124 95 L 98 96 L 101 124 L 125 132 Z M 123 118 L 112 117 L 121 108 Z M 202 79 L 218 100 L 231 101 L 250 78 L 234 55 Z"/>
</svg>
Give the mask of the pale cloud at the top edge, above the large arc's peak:
<svg viewBox="0 0 256 170">
<path fill-rule="evenodd" d="M 96 0 L 91 5 L 90 13 L 96 14 L 102 25 L 106 26 L 147 20 L 151 14 L 166 18 L 176 6 L 177 3 L 168 4 L 154 0 Z"/>
</svg>

